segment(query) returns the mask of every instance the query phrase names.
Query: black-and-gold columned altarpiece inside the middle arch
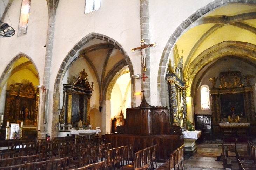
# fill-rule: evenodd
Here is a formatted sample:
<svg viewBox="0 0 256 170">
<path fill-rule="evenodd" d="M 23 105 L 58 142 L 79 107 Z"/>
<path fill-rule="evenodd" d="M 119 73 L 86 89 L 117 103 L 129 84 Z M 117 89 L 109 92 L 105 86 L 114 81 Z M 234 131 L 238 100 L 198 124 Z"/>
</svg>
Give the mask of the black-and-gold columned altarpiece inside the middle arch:
<svg viewBox="0 0 256 170">
<path fill-rule="evenodd" d="M 79 77 L 73 77 L 70 84 L 63 84 L 63 106 L 60 111 L 60 132 L 69 132 L 73 128 L 83 128 L 83 124 L 90 126 L 90 98 L 93 92 L 93 82 L 90 85 L 85 69 Z"/>
</svg>

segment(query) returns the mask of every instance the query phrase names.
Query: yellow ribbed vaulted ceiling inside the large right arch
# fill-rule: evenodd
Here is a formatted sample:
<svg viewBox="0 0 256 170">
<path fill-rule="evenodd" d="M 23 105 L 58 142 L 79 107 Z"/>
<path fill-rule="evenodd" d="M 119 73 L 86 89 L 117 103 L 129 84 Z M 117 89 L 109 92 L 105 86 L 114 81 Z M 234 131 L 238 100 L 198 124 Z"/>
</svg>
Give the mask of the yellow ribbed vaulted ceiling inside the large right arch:
<svg viewBox="0 0 256 170">
<path fill-rule="evenodd" d="M 195 57 L 223 41 L 242 41 L 256 45 L 256 6 L 224 5 L 194 22 L 192 28 L 176 43 L 179 56 L 183 50 L 185 76 Z"/>
</svg>

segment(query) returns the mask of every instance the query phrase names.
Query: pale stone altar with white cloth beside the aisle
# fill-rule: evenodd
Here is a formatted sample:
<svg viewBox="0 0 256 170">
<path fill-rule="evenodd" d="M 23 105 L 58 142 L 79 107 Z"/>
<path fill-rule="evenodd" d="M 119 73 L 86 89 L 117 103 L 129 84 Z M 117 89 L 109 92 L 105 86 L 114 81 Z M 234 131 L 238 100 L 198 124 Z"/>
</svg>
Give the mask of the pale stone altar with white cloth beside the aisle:
<svg viewBox="0 0 256 170">
<path fill-rule="evenodd" d="M 197 153 L 197 147 L 195 145 L 196 140 L 201 136 L 201 131 L 184 131 L 184 144 L 185 144 L 185 155 L 194 156 Z"/>
</svg>

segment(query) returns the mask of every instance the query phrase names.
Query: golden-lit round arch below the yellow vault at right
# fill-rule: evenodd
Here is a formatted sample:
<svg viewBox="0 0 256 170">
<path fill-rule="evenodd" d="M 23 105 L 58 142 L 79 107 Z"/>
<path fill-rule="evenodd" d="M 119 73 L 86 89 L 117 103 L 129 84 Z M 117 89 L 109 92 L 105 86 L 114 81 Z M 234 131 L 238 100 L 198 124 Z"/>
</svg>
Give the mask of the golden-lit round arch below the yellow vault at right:
<svg viewBox="0 0 256 170">
<path fill-rule="evenodd" d="M 186 76 L 186 95 L 191 95 L 191 86 L 194 78 L 196 77 L 197 73 L 204 68 L 204 66 L 216 59 L 228 55 L 256 60 L 256 45 L 240 41 L 224 41 L 203 51 L 189 65 L 188 74 Z"/>
</svg>

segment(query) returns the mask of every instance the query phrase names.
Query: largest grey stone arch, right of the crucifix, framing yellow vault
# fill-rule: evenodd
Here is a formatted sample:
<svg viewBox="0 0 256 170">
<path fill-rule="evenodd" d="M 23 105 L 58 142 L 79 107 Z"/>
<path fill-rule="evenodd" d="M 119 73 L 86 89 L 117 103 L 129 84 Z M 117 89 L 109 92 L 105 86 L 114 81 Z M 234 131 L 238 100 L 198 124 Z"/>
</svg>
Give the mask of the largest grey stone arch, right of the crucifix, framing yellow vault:
<svg viewBox="0 0 256 170">
<path fill-rule="evenodd" d="M 157 88 L 158 88 L 158 95 L 159 95 L 159 103 L 158 105 L 167 105 L 166 103 L 166 83 L 165 83 L 165 70 L 166 70 L 166 64 L 168 62 L 168 57 L 171 52 L 171 50 L 174 48 L 175 43 L 177 42 L 178 38 L 187 31 L 186 29 L 189 28 L 189 26 L 194 23 L 197 19 L 202 17 L 204 14 L 210 12 L 211 10 L 220 7 L 224 4 L 228 3 L 241 3 L 241 4 L 248 4 L 248 5 L 256 5 L 256 1 L 253 0 L 215 0 L 208 5 L 202 7 L 201 9 L 197 10 L 195 13 L 190 15 L 185 21 L 183 21 L 180 26 L 176 28 L 174 33 L 170 36 L 169 40 L 166 43 L 166 46 L 164 47 L 160 63 L 159 63 L 159 70 L 158 70 L 158 77 L 157 77 Z"/>
</svg>

